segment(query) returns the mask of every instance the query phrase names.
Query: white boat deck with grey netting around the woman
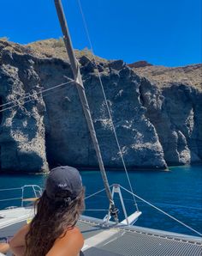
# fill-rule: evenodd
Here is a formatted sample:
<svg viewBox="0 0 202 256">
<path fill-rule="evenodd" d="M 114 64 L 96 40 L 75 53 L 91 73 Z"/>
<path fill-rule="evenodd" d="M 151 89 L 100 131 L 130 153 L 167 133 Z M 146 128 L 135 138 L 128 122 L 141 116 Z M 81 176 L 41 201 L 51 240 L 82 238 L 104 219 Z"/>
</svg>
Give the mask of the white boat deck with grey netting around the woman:
<svg viewBox="0 0 202 256">
<path fill-rule="evenodd" d="M 1 210 L 0 216 L 3 216 L 0 219 L 0 241 L 3 241 L 14 235 L 27 218 L 33 216 L 33 210 L 30 208 Z M 104 224 L 102 220 L 88 216 L 80 217 L 78 227 L 85 237 L 85 245 L 82 248 L 85 256 L 202 255 L 202 240 L 195 236 L 115 225 L 114 222 Z"/>
</svg>

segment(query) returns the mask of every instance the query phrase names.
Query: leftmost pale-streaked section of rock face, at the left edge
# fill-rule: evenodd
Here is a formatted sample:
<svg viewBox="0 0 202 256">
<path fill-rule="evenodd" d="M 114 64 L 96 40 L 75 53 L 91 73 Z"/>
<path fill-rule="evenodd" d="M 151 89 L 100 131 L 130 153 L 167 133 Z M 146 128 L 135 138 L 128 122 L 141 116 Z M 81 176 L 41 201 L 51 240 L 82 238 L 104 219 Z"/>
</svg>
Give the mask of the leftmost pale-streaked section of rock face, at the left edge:
<svg viewBox="0 0 202 256">
<path fill-rule="evenodd" d="M 36 94 L 40 79 L 33 69 L 33 59 L 26 52 L 11 52 L 9 47 L 7 42 L 0 45 L 0 99 L 4 104 L 0 113 L 1 169 L 45 172 L 45 104 L 41 95 Z M 20 46 L 15 47 L 21 51 Z M 35 99 L 26 103 L 30 93 L 36 94 Z M 9 109 L 15 105 L 18 107 Z"/>
</svg>

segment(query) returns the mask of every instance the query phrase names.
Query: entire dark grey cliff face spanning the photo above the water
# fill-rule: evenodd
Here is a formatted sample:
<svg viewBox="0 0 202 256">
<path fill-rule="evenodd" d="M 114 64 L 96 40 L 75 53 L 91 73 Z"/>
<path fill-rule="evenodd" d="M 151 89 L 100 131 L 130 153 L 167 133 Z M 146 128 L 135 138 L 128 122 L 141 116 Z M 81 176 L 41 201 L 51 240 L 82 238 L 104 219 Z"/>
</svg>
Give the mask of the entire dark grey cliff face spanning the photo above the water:
<svg viewBox="0 0 202 256">
<path fill-rule="evenodd" d="M 159 88 L 122 61 L 99 59 L 97 65 L 127 167 L 201 162 L 198 89 L 179 82 Z M 80 56 L 80 71 L 104 165 L 122 168 L 96 65 Z M 0 41 L 1 170 L 98 167 L 77 89 L 68 82 L 72 77 L 62 58 L 40 57 L 31 47 Z"/>
</svg>

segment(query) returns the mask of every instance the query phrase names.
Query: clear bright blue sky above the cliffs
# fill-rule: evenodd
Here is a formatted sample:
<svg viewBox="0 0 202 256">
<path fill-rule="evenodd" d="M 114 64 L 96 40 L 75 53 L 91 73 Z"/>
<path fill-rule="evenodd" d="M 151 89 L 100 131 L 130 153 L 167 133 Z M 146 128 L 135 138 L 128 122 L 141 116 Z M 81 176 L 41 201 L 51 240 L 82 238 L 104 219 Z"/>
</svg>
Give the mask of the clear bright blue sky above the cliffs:
<svg viewBox="0 0 202 256">
<path fill-rule="evenodd" d="M 90 48 L 78 0 L 62 1 L 74 48 Z M 96 55 L 127 63 L 202 62 L 200 0 L 80 0 Z M 0 37 L 27 44 L 62 35 L 53 0 L 1 1 Z"/>
</svg>

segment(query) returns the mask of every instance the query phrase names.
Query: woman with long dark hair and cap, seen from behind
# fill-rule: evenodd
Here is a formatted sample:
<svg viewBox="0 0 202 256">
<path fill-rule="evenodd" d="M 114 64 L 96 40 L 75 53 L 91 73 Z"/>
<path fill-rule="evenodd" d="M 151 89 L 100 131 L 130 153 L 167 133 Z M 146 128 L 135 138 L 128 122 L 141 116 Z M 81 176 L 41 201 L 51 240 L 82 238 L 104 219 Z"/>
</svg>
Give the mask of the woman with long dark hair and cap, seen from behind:
<svg viewBox="0 0 202 256">
<path fill-rule="evenodd" d="M 84 188 L 77 169 L 50 171 L 36 215 L 10 241 L 16 256 L 77 256 L 84 239 L 75 227 L 84 209 Z"/>
</svg>

